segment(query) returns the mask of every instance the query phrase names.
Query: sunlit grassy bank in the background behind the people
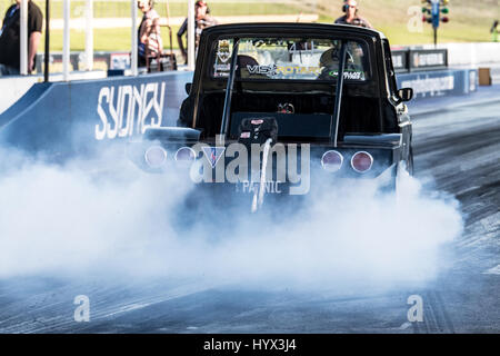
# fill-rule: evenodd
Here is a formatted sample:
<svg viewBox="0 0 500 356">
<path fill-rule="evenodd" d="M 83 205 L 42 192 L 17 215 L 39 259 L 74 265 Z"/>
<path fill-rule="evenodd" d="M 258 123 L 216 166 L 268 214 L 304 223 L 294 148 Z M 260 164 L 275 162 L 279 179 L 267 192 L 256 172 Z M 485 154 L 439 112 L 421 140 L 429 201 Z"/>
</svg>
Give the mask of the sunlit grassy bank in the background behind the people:
<svg viewBox="0 0 500 356">
<path fill-rule="evenodd" d="M 244 14 L 296 14 L 300 9 L 304 12 L 312 12 L 314 9 L 306 7 L 304 1 L 292 1 L 290 3 L 273 3 L 270 1 L 252 2 L 246 0 L 241 2 L 213 2 L 208 1 L 212 10 L 212 16 L 244 16 Z M 44 1 L 36 0 L 43 8 Z M 332 23 L 340 11 L 342 0 L 318 0 L 319 22 Z M 407 14 L 409 7 L 421 7 L 420 0 L 358 0 L 360 4 L 360 14 L 366 17 L 378 30 L 382 31 L 390 40 L 391 44 L 424 44 L 432 43 L 432 28 L 423 23 L 422 31 L 409 31 L 407 23 L 410 16 Z M 12 3 L 11 0 L 0 0 L 0 10 L 3 12 L 6 7 Z M 62 13 L 61 0 L 51 0 L 52 18 L 60 18 Z M 72 17 L 83 16 L 84 1 L 71 1 Z M 449 4 L 450 22 L 443 23 L 439 29 L 440 42 L 481 42 L 490 41 L 489 33 L 491 23 L 496 18 L 500 18 L 500 8 L 498 0 L 452 0 Z M 157 10 L 161 16 L 166 16 L 164 1 L 157 3 Z M 170 16 L 183 17 L 187 13 L 187 3 L 171 2 Z M 96 17 L 129 17 L 129 1 L 94 1 Z M 177 30 L 173 28 L 173 47 L 177 48 Z M 168 32 L 162 29 L 164 47 L 168 47 Z M 79 51 L 84 47 L 84 32 L 71 31 L 71 50 Z M 41 43 L 40 48 L 43 43 Z M 94 47 L 97 51 L 129 51 L 130 50 L 130 29 L 96 29 Z M 61 51 L 62 31 L 53 30 L 51 32 L 51 50 Z"/>
</svg>

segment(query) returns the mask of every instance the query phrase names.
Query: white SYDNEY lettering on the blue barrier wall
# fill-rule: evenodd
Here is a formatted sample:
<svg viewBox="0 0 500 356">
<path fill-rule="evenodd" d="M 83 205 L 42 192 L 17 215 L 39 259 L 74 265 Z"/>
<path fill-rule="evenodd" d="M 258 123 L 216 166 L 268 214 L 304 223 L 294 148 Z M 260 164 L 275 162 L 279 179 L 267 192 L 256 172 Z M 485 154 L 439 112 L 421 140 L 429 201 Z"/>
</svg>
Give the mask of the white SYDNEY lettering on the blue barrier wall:
<svg viewBox="0 0 500 356">
<path fill-rule="evenodd" d="M 101 122 L 96 125 L 96 139 L 130 137 L 160 127 L 164 88 L 164 82 L 101 88 L 97 107 Z"/>
</svg>

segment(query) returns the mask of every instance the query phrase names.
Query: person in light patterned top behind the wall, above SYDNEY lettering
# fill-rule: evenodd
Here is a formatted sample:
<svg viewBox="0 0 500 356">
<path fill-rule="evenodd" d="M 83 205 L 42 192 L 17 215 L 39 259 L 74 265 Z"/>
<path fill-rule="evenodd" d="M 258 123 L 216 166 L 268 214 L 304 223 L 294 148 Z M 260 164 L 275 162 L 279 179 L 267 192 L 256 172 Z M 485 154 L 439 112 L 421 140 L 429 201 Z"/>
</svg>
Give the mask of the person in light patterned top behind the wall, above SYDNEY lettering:
<svg viewBox="0 0 500 356">
<path fill-rule="evenodd" d="M 160 16 L 153 9 L 153 0 L 138 0 L 137 6 L 143 13 L 138 34 L 138 66 L 146 67 L 148 57 L 159 57 L 163 52 L 163 41 L 160 34 Z"/>
</svg>

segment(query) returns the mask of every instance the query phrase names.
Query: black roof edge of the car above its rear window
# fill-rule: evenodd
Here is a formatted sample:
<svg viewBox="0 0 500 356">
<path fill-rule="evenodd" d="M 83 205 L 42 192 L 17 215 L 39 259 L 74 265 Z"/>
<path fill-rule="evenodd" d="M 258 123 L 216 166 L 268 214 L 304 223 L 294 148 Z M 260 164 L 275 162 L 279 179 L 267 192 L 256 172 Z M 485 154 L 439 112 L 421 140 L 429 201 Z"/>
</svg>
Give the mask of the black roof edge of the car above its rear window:
<svg viewBox="0 0 500 356">
<path fill-rule="evenodd" d="M 229 24 L 217 24 L 203 29 L 206 36 L 213 33 L 231 33 L 231 34 L 272 34 L 277 36 L 282 33 L 289 33 L 300 31 L 301 34 L 314 36 L 318 31 L 328 32 L 334 31 L 336 33 L 344 34 L 359 34 L 359 36 L 370 36 L 377 39 L 386 39 L 386 36 L 374 29 L 368 29 L 359 26 L 351 24 L 332 24 L 332 23 L 311 23 L 311 22 L 253 22 L 253 23 L 229 23 Z"/>
</svg>

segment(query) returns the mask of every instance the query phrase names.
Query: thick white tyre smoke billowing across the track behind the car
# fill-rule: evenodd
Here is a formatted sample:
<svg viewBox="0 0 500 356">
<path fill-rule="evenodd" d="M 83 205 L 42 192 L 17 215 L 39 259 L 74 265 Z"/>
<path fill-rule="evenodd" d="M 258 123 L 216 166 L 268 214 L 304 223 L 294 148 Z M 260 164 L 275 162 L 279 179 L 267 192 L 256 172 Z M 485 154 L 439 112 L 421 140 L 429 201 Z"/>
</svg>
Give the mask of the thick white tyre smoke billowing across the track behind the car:
<svg viewBox="0 0 500 356">
<path fill-rule="evenodd" d="M 402 199 L 372 184 L 326 185 L 287 220 L 188 210 L 186 171 L 149 175 L 108 152 L 64 165 L 2 150 L 0 278 L 27 275 L 200 278 L 213 284 L 349 288 L 426 283 L 461 234 L 458 202 L 403 179 Z M 113 169 L 102 161 L 120 162 Z M 116 169 L 119 167 L 119 169 Z M 204 211 L 204 212 L 203 212 Z M 183 216 L 186 228 L 172 224 Z M 212 217 L 233 228 L 221 229 Z"/>
</svg>

